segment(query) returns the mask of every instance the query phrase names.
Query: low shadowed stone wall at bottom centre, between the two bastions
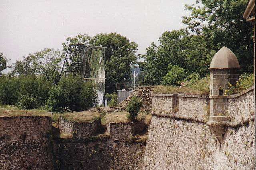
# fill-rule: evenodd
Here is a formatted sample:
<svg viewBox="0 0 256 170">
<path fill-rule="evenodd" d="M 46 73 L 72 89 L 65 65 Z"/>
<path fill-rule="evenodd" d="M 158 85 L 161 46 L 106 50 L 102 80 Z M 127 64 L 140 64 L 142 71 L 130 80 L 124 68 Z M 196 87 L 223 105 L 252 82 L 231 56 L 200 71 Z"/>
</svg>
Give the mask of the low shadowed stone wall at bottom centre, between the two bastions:
<svg viewBox="0 0 256 170">
<path fill-rule="evenodd" d="M 62 140 L 54 144 L 56 170 L 141 170 L 145 144 Z"/>
</svg>

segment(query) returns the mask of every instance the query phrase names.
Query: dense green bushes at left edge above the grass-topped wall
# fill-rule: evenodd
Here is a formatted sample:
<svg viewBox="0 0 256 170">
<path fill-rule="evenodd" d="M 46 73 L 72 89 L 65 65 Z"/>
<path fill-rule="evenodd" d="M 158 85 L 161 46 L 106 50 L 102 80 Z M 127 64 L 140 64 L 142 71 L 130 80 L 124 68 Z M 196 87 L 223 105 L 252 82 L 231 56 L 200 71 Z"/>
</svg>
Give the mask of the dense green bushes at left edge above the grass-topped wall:
<svg viewBox="0 0 256 170">
<path fill-rule="evenodd" d="M 48 98 L 50 82 L 32 75 L 0 77 L 0 103 L 18 104 L 21 108 L 37 108 Z"/>
</svg>

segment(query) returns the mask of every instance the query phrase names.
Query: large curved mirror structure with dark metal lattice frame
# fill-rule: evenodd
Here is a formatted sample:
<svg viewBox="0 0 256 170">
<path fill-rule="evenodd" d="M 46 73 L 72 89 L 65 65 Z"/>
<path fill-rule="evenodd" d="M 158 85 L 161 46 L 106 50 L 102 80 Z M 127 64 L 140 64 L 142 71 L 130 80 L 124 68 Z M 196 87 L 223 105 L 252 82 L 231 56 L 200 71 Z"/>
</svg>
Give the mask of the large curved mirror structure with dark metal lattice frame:
<svg viewBox="0 0 256 170">
<path fill-rule="evenodd" d="M 61 76 L 81 75 L 85 81 L 94 81 L 100 105 L 105 94 L 105 50 L 102 46 L 70 44 L 60 72 Z"/>
</svg>

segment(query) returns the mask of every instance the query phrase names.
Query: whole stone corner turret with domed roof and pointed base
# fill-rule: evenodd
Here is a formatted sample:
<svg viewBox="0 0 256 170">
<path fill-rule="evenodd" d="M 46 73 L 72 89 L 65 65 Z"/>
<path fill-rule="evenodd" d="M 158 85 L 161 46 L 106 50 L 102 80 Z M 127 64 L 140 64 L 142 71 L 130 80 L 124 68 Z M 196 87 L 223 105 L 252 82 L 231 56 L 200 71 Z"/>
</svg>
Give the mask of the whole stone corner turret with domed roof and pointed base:
<svg viewBox="0 0 256 170">
<path fill-rule="evenodd" d="M 228 120 L 228 98 L 223 93 L 228 89 L 228 82 L 235 85 L 239 78 L 239 62 L 235 54 L 222 47 L 212 58 L 210 64 L 210 121 Z M 227 128 L 212 127 L 214 134 L 222 142 Z"/>
</svg>

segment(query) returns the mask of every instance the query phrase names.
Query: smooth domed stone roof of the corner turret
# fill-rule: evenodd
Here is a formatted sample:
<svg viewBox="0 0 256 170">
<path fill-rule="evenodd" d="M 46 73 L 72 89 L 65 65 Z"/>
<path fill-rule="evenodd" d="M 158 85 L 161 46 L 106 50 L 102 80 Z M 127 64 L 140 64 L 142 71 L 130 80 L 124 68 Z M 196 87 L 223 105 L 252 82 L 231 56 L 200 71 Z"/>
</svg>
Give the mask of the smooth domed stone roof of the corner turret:
<svg viewBox="0 0 256 170">
<path fill-rule="evenodd" d="M 211 68 L 240 68 L 236 55 L 228 48 L 222 47 L 212 58 Z"/>
</svg>

